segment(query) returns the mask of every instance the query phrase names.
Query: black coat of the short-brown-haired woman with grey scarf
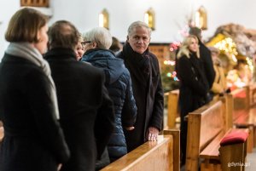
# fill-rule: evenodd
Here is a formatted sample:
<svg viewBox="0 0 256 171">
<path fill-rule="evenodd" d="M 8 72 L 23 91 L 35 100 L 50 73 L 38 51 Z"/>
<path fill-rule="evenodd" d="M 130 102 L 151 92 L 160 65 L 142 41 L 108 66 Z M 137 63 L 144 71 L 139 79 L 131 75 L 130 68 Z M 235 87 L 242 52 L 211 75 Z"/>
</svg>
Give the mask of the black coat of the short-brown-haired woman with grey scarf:
<svg viewBox="0 0 256 171">
<path fill-rule="evenodd" d="M 50 99 L 49 79 L 29 60 L 4 54 L 0 65 L 1 171 L 55 171 L 69 157 Z"/>
</svg>

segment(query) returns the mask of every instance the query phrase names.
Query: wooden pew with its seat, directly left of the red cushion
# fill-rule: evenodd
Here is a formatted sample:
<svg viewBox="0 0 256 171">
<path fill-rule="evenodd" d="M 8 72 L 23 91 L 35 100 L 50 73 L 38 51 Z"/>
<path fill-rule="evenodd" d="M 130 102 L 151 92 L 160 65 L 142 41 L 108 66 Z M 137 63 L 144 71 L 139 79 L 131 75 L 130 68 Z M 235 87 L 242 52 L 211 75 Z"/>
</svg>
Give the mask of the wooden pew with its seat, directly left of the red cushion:
<svg viewBox="0 0 256 171">
<path fill-rule="evenodd" d="M 221 158 L 218 151 L 219 143 L 225 134 L 233 131 L 232 124 L 227 120 L 232 118 L 232 113 L 228 108 L 228 99 L 230 97 L 232 97 L 230 94 L 226 94 L 224 98 L 214 100 L 189 113 L 187 171 L 197 171 L 200 160 L 202 160 L 201 171 L 221 170 Z M 242 147 L 246 147 L 246 145 L 242 145 Z M 244 151 L 244 149 L 241 149 L 241 151 Z"/>
</svg>

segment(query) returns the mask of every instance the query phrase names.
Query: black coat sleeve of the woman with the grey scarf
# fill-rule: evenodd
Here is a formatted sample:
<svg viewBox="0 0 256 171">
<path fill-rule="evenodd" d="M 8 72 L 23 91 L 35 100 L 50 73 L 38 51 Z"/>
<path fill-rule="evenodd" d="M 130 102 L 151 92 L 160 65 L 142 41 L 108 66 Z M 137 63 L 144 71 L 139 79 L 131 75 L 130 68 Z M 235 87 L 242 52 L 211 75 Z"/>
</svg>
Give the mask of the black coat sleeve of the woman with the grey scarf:
<svg viewBox="0 0 256 171">
<path fill-rule="evenodd" d="M 67 162 L 70 153 L 50 98 L 48 77 L 42 71 L 32 71 L 25 79 L 26 94 L 43 144 L 55 156 L 56 162 Z"/>
</svg>

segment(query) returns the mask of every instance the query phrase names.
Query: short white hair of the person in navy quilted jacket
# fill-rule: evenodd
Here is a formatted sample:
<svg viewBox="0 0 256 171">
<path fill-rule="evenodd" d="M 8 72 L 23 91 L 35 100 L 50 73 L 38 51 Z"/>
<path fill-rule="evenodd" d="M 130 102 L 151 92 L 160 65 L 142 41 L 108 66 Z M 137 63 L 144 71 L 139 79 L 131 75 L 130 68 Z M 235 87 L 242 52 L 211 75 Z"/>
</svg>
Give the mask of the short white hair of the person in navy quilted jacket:
<svg viewBox="0 0 256 171">
<path fill-rule="evenodd" d="M 112 44 L 112 36 L 104 27 L 96 27 L 87 31 L 83 35 L 84 41 L 95 42 L 97 48 L 110 48 Z"/>
</svg>

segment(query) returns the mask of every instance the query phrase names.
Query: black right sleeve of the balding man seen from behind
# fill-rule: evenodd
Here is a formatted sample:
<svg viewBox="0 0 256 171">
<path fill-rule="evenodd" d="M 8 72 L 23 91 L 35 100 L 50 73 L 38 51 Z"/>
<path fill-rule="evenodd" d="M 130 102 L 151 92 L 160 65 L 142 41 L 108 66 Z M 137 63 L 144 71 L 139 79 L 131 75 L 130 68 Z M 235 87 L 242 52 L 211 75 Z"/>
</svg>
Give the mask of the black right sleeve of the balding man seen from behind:
<svg viewBox="0 0 256 171">
<path fill-rule="evenodd" d="M 103 80 L 104 81 L 104 80 Z M 106 145 L 110 139 L 111 134 L 113 133 L 114 128 L 114 112 L 113 112 L 113 102 L 108 96 L 108 90 L 103 85 L 102 86 L 102 105 L 100 106 L 95 123 L 95 137 L 96 137 L 96 146 L 97 146 L 97 157 L 102 156 Z"/>
</svg>

